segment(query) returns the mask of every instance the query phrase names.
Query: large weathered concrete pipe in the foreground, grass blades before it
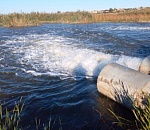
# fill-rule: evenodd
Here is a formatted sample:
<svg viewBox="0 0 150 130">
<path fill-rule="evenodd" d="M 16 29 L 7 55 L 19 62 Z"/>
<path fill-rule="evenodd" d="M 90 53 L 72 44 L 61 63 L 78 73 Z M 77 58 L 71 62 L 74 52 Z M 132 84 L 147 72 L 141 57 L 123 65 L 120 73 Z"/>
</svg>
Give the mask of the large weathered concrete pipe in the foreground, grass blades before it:
<svg viewBox="0 0 150 130">
<path fill-rule="evenodd" d="M 144 95 L 150 95 L 150 76 L 111 63 L 105 66 L 97 79 L 97 88 L 100 93 L 114 101 L 133 108 L 133 103 L 143 107 Z"/>
</svg>

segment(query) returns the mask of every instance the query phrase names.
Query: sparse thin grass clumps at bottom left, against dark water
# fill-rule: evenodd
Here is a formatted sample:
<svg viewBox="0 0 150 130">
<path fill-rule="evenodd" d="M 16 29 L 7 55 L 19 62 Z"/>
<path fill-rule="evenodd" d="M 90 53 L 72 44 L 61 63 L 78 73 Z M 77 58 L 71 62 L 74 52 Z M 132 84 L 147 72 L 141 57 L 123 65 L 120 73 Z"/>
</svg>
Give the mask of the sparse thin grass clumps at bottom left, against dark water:
<svg viewBox="0 0 150 130">
<path fill-rule="evenodd" d="M 22 98 L 15 104 L 12 110 L 4 109 L 0 104 L 0 130 L 23 130 L 21 126 L 21 112 L 24 108 L 24 103 L 21 100 Z M 41 123 L 40 119 L 35 119 L 35 130 L 52 130 L 55 122 L 56 120 L 53 120 L 51 117 L 48 124 Z M 62 130 L 60 118 L 59 124 L 59 130 Z"/>
</svg>

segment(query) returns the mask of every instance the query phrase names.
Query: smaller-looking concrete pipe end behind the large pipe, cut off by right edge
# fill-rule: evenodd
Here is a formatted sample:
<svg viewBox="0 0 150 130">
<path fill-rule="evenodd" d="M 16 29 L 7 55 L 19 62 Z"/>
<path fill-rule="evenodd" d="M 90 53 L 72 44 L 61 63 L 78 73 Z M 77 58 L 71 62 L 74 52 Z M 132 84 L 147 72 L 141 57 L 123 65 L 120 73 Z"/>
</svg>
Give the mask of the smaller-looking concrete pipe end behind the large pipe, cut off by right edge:
<svg viewBox="0 0 150 130">
<path fill-rule="evenodd" d="M 139 71 L 150 75 L 150 56 L 146 57 L 139 67 Z"/>
</svg>

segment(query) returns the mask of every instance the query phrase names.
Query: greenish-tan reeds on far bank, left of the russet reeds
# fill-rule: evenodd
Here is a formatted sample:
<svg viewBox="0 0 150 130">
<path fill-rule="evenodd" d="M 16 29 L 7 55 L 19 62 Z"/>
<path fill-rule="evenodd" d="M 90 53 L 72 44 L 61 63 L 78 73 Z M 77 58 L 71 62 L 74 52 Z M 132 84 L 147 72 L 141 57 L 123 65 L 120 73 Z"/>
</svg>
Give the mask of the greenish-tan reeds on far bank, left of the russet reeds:
<svg viewBox="0 0 150 130">
<path fill-rule="evenodd" d="M 89 23 L 92 15 L 88 12 L 68 13 L 11 13 L 0 16 L 0 24 L 4 27 L 35 26 L 42 23 Z"/>
</svg>

